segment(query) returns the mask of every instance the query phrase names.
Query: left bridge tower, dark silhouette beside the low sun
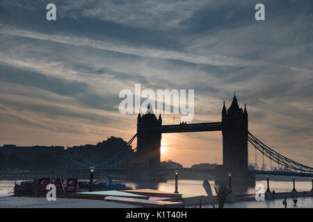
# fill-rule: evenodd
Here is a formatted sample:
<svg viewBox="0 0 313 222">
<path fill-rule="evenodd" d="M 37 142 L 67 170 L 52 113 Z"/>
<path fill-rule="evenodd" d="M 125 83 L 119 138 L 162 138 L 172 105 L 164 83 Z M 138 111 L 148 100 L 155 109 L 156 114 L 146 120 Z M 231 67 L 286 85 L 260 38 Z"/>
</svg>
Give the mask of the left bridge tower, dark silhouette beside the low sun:
<svg viewBox="0 0 313 222">
<path fill-rule="evenodd" d="M 148 105 L 147 112 L 137 117 L 137 167 L 153 169 L 159 167 L 161 157 L 161 133 L 150 132 L 151 128 L 161 127 L 161 114 L 159 119 Z"/>
</svg>

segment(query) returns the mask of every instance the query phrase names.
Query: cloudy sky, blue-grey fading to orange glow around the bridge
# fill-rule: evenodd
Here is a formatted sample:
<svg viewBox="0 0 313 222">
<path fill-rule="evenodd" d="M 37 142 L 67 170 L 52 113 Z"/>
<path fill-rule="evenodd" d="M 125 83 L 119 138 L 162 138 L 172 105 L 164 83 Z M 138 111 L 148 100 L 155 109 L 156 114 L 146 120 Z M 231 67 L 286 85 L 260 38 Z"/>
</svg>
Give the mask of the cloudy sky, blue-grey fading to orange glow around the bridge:
<svg viewBox="0 0 313 222">
<path fill-rule="evenodd" d="M 253 135 L 312 167 L 312 12 L 312 0 L 1 0 L 0 145 L 128 141 L 136 114 L 119 112 L 119 92 L 141 84 L 194 89 L 194 123 L 220 121 L 236 92 Z M 164 134 L 161 160 L 222 164 L 222 135 Z"/>
</svg>

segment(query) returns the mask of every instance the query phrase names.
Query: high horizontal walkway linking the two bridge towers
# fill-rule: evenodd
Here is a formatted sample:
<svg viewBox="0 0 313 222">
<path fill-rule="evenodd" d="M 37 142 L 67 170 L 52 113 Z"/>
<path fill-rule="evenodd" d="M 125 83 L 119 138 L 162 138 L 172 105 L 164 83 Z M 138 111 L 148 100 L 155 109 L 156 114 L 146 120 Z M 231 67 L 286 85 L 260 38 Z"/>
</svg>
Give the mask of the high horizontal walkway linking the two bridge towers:
<svg viewBox="0 0 313 222">
<path fill-rule="evenodd" d="M 151 128 L 150 131 L 158 133 L 188 133 L 188 132 L 204 132 L 204 131 L 220 131 L 222 123 L 180 123 L 176 125 L 163 125 L 158 128 Z"/>
</svg>

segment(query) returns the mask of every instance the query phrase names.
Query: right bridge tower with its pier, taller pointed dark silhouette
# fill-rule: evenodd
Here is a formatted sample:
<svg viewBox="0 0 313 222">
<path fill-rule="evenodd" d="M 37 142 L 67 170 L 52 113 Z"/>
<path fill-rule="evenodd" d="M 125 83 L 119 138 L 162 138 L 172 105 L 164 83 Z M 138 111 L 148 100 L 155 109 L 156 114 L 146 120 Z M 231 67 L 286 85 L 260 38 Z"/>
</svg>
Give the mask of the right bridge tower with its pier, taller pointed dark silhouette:
<svg viewBox="0 0 313 222">
<path fill-rule="evenodd" d="M 236 95 L 230 108 L 222 110 L 223 166 L 216 168 L 216 183 L 228 185 L 232 173 L 233 185 L 255 185 L 255 176 L 248 171 L 248 112 L 239 108 Z"/>
</svg>

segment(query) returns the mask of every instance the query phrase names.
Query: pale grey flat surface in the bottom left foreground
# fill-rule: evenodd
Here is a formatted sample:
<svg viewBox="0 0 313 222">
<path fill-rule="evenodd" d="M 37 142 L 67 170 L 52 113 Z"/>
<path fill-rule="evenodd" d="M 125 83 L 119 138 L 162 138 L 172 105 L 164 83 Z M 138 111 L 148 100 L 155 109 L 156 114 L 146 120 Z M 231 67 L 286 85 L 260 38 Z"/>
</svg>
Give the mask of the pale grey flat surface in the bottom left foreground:
<svg viewBox="0 0 313 222">
<path fill-rule="evenodd" d="M 83 200 L 74 198 L 46 198 L 0 196 L 0 208 L 134 208 L 136 205 L 114 203 L 104 200 Z"/>
</svg>

